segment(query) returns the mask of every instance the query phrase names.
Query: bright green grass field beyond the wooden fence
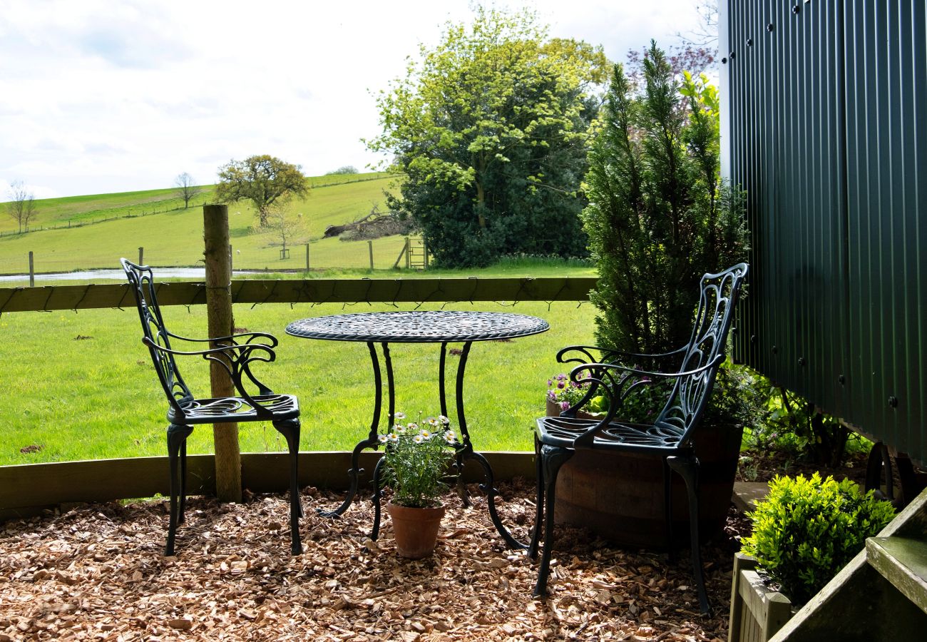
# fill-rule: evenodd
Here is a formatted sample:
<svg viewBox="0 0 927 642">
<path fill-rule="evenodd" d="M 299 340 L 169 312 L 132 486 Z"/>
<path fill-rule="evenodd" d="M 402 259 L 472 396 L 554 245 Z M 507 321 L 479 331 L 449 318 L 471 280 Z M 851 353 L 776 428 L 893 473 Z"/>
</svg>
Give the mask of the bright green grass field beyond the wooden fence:
<svg viewBox="0 0 927 642">
<path fill-rule="evenodd" d="M 267 277 L 594 276 L 588 264 L 544 259 L 507 259 L 476 272 L 370 272 L 364 269 L 369 268 L 366 241 L 321 238 L 327 225 L 356 220 L 376 204 L 384 209 L 383 191 L 396 179 L 387 175 L 361 176 L 365 179 L 362 181 L 358 178 L 311 179 L 316 187 L 310 196 L 292 202 L 290 210 L 302 212 L 308 220 L 313 271 Z M 342 183 L 318 186 L 337 181 Z M 118 268 L 121 256 L 137 259 L 140 246 L 145 248 L 145 263 L 155 266 L 201 264 L 202 208 L 126 217 L 146 208 L 150 211 L 179 206 L 175 190 L 50 199 L 39 205 L 39 222 L 46 225 L 69 219 L 73 224 L 100 216 L 100 212 L 122 218 L 0 237 L 0 274 L 26 271 L 29 251 L 34 252 L 38 273 Z M 281 261 L 278 248 L 271 246 L 273 238 L 252 232 L 255 214 L 248 204 L 231 205 L 229 214 L 235 268 L 273 271 L 305 267 L 303 246 L 293 248 L 290 258 Z M 8 229 L 10 223 L 6 220 L 0 229 Z M 375 266 L 390 267 L 402 243 L 400 237 L 376 239 Z M 317 272 L 317 267 L 332 269 Z M 37 286 L 46 283 L 51 281 L 44 281 L 41 274 L 37 276 Z M 0 287 L 27 284 L 28 279 L 22 279 L 5 281 Z M 450 307 L 470 309 L 471 305 Z M 280 338 L 278 361 L 264 368 L 263 374 L 275 390 L 298 394 L 303 409 L 304 450 L 349 449 L 369 430 L 373 407 L 371 366 L 363 344 L 292 339 L 284 334 L 284 327 L 306 316 L 376 309 L 394 308 L 366 303 L 316 307 L 268 304 L 253 309 L 236 306 L 237 327 L 269 331 Z M 490 302 L 479 303 L 474 309 L 512 308 Z M 553 362 L 554 354 L 568 343 L 591 338 L 593 310 L 589 304 L 562 302 L 548 308 L 545 303 L 521 302 L 514 311 L 539 315 L 550 322 L 552 329 L 537 337 L 474 346 L 466 379 L 467 416 L 476 446 L 482 450 L 530 449 L 532 420 L 541 412 L 546 381 L 565 369 Z M 169 308 L 167 314 L 172 331 L 185 336 L 205 335 L 205 306 Z M 0 398 L 0 417 L 4 417 L 0 423 L 0 465 L 164 454 L 166 401 L 159 392 L 147 351 L 139 341 L 137 324 L 133 309 L 0 315 L 0 381 L 7 392 Z M 413 416 L 420 411 L 426 415 L 437 413 L 437 346 L 397 345 L 392 353 L 398 409 Z M 455 367 L 452 362 L 451 367 Z M 184 377 L 195 391 L 206 393 L 206 362 L 193 359 L 185 365 Z M 246 452 L 285 449 L 269 424 L 244 426 L 241 443 Z M 34 452 L 22 453 L 21 449 Z M 190 449 L 210 452 L 210 428 L 193 433 Z"/>
</svg>

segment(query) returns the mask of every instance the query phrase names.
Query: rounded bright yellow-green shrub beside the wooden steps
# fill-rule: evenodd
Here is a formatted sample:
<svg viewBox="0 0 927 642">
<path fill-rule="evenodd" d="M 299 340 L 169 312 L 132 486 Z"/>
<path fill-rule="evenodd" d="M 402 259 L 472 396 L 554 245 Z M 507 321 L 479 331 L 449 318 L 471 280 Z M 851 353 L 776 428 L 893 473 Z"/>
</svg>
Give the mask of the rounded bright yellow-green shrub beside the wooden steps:
<svg viewBox="0 0 927 642">
<path fill-rule="evenodd" d="M 821 482 L 815 473 L 776 477 L 766 500 L 748 513 L 753 534 L 742 551 L 753 556 L 782 593 L 804 604 L 879 533 L 895 509 L 873 494 L 861 494 L 855 482 Z"/>
</svg>

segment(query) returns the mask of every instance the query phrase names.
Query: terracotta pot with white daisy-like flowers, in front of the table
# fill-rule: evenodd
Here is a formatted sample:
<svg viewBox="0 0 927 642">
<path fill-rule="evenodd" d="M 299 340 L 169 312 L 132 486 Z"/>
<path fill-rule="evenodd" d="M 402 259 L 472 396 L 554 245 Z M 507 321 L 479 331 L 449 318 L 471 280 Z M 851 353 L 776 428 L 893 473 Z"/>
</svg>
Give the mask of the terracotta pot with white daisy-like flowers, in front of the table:
<svg viewBox="0 0 927 642">
<path fill-rule="evenodd" d="M 448 490 L 448 468 L 458 440 L 448 417 L 401 423 L 379 437 L 385 446 L 383 482 L 392 490 L 387 512 L 393 522 L 396 548 L 403 558 L 421 559 L 435 550 L 444 517 L 440 497 Z"/>
</svg>

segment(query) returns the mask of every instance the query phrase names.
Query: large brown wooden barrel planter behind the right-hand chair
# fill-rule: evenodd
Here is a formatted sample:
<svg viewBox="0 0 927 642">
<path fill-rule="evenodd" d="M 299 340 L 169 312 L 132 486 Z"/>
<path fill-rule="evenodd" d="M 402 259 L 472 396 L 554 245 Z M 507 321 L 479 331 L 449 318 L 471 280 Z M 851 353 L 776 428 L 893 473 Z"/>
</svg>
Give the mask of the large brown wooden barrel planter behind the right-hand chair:
<svg viewBox="0 0 927 642">
<path fill-rule="evenodd" d="M 557 414 L 548 407 L 548 414 Z M 703 542 L 724 528 L 734 490 L 742 429 L 703 424 L 696 446 L 699 469 L 699 533 Z M 554 521 L 588 528 L 616 544 L 664 548 L 661 457 L 638 453 L 578 450 L 560 469 Z M 689 499 L 685 482 L 673 474 L 673 537 L 689 542 Z"/>
</svg>

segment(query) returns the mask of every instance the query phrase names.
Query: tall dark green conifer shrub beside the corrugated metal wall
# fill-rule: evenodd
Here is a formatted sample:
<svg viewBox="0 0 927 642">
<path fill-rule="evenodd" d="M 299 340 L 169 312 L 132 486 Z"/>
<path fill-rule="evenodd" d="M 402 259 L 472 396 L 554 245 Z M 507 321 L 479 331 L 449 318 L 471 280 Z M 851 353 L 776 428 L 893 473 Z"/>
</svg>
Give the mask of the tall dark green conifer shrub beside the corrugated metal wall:
<svg viewBox="0 0 927 642">
<path fill-rule="evenodd" d="M 743 259 L 742 198 L 720 179 L 717 91 L 678 83 L 655 43 L 633 89 L 616 65 L 589 155 L 583 223 L 600 345 L 665 353 L 692 332 L 699 279 Z"/>
</svg>

